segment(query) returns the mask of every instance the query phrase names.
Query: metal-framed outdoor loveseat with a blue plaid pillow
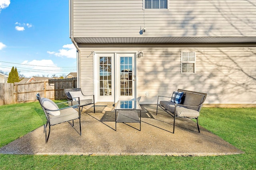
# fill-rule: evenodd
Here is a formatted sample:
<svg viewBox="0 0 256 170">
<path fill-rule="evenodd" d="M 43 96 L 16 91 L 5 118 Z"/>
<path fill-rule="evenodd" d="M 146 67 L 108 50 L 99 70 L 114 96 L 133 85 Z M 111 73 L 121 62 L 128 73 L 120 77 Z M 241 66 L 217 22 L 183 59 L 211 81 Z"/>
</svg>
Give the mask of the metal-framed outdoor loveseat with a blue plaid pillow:
<svg viewBox="0 0 256 170">
<path fill-rule="evenodd" d="M 164 111 L 174 117 L 173 133 L 176 117 L 196 119 L 198 132 L 200 133 L 198 117 L 200 109 L 206 99 L 206 96 L 206 93 L 193 92 L 181 89 L 174 91 L 171 97 L 158 96 L 156 114 L 158 111 L 158 107 L 161 107 Z"/>
</svg>

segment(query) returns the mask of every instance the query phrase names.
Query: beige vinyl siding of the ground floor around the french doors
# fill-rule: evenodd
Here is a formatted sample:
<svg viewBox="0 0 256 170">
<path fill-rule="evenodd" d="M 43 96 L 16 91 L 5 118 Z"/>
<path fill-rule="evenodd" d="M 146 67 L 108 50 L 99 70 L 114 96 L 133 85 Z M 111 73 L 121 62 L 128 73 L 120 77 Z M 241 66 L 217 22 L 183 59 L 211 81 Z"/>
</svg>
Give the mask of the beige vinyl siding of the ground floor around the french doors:
<svg viewBox="0 0 256 170">
<path fill-rule="evenodd" d="M 80 47 L 81 87 L 87 93 L 93 89 L 91 51 L 143 51 L 136 80 L 142 104 L 156 104 L 158 95 L 170 96 L 177 88 L 206 92 L 206 104 L 256 104 L 256 47 L 86 46 Z M 196 74 L 180 74 L 180 51 L 196 52 Z"/>
</svg>

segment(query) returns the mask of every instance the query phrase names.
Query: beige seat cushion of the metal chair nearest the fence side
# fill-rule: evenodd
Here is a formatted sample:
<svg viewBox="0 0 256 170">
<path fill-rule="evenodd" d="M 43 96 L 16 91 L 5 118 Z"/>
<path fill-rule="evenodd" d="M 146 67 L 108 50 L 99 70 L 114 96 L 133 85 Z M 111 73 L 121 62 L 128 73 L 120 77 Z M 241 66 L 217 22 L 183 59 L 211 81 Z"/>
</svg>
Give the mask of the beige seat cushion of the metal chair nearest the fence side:
<svg viewBox="0 0 256 170">
<path fill-rule="evenodd" d="M 69 121 L 72 119 L 77 119 L 79 118 L 79 113 L 74 108 L 70 107 L 67 109 L 60 110 L 60 115 L 57 115 L 57 116 L 49 115 L 49 117 L 50 117 L 50 125 L 55 125 L 55 124 Z"/>
</svg>

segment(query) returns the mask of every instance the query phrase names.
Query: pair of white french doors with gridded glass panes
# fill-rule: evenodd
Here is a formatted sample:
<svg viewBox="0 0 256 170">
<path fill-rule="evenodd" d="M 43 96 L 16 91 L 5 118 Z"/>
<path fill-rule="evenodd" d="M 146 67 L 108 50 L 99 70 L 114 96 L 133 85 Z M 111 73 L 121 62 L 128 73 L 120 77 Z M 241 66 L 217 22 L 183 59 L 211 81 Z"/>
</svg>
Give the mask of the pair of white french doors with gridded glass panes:
<svg viewBox="0 0 256 170">
<path fill-rule="evenodd" d="M 136 98 L 136 53 L 95 53 L 96 102 Z"/>
</svg>

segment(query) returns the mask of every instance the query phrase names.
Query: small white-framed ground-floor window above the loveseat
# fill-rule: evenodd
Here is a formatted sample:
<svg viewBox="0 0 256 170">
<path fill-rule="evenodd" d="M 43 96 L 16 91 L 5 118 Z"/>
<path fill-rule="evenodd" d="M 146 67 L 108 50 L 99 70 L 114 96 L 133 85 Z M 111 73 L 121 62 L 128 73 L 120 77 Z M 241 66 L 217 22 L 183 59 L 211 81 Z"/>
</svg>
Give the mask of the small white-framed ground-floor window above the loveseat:
<svg viewBox="0 0 256 170">
<path fill-rule="evenodd" d="M 196 52 L 181 51 L 181 74 L 196 73 Z"/>
</svg>

